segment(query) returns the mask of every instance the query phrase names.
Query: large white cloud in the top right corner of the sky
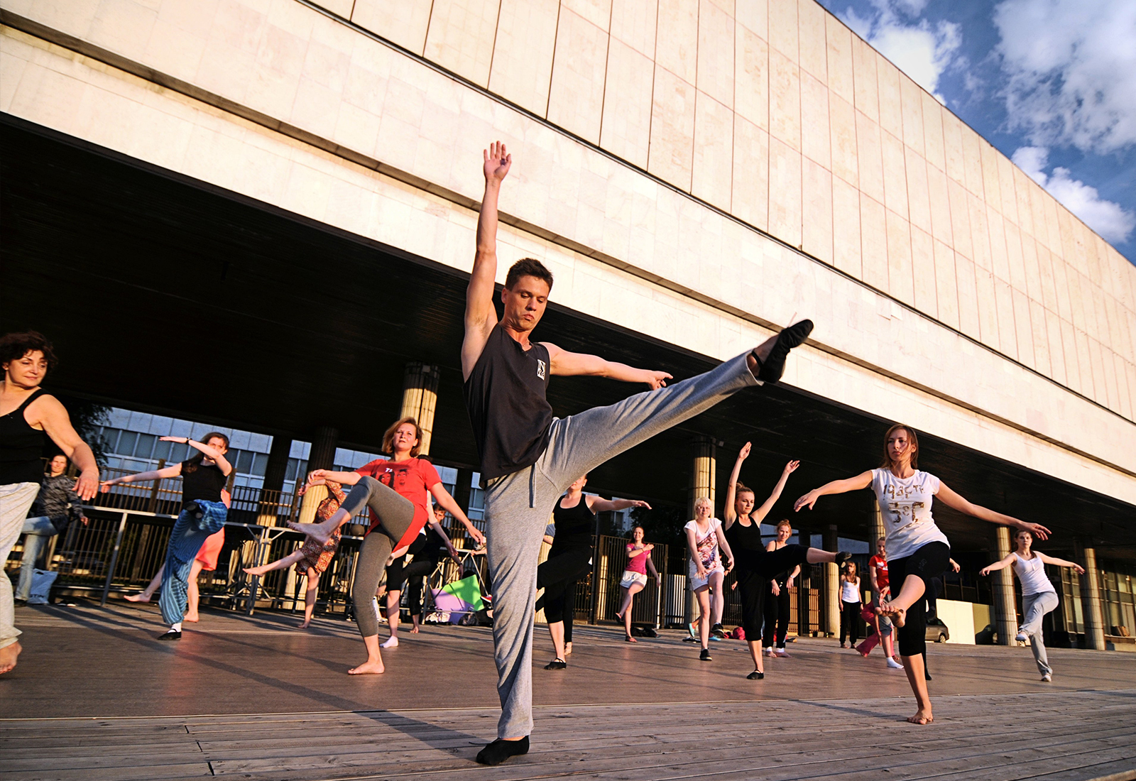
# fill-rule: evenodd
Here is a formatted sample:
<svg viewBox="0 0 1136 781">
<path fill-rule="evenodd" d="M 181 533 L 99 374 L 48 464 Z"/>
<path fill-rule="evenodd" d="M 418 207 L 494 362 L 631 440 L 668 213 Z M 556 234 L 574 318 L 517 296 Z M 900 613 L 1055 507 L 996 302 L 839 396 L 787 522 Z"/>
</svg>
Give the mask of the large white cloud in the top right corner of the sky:
<svg viewBox="0 0 1136 781">
<path fill-rule="evenodd" d="M 1011 128 L 1083 151 L 1136 142 L 1136 2 L 1003 0 L 994 24 Z"/>
</svg>

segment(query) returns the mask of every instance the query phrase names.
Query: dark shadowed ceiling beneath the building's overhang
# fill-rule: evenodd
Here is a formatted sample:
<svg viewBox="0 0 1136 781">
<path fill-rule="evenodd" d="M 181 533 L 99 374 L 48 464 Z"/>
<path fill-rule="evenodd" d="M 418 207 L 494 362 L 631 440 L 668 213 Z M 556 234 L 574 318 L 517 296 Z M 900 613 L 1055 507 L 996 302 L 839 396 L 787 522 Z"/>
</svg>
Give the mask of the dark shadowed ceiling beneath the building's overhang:
<svg viewBox="0 0 1136 781">
<path fill-rule="evenodd" d="M 376 450 L 400 409 L 403 367 L 419 360 L 442 367 L 435 460 L 474 465 L 458 364 L 466 275 L 7 115 L 0 166 L 0 327 L 55 341 L 61 364 L 49 387 L 299 439 L 335 426 L 341 444 Z M 537 336 L 676 378 L 713 364 L 556 305 Z M 550 401 L 565 415 L 638 389 L 558 378 Z M 720 487 L 750 439 L 743 480 L 759 493 L 786 460 L 803 462 L 780 517 L 808 488 L 876 467 L 887 422 L 767 386 L 613 459 L 590 487 L 685 505 L 691 438 L 725 443 Z M 1055 548 L 1074 532 L 1136 546 L 1131 505 L 935 437 L 922 453 L 921 465 L 968 498 L 1054 528 Z M 825 497 L 794 520 L 866 538 L 869 507 L 867 492 Z M 936 512 L 959 549 L 988 545 L 987 524 Z"/>
</svg>

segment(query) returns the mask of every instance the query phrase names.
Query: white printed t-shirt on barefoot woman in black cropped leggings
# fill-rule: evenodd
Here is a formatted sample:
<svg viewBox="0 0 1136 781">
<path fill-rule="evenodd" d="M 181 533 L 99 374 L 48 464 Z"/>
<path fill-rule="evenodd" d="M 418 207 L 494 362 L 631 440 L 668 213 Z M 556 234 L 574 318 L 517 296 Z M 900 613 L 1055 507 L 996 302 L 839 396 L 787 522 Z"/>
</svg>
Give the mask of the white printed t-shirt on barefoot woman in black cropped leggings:
<svg viewBox="0 0 1136 781">
<path fill-rule="evenodd" d="M 910 556 L 928 543 L 951 545 L 930 515 L 938 485 L 937 477 L 919 470 L 909 478 L 897 478 L 889 469 L 871 470 L 871 489 L 887 537 L 887 561 Z"/>
</svg>

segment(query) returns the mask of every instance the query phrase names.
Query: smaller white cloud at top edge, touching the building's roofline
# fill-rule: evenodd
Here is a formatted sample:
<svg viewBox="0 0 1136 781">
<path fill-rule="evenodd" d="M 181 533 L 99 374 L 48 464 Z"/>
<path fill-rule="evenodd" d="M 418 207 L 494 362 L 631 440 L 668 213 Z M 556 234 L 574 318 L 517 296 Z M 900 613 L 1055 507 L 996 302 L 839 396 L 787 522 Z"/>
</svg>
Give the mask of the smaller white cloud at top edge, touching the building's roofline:
<svg viewBox="0 0 1136 781">
<path fill-rule="evenodd" d="M 852 31 L 889 59 L 911 79 L 935 95 L 938 79 L 952 65 L 962 43 L 960 27 L 951 22 L 932 25 L 927 19 L 911 24 L 904 17 L 918 16 L 927 0 L 872 0 L 876 14 L 864 18 L 851 7 L 841 14 Z"/>
</svg>

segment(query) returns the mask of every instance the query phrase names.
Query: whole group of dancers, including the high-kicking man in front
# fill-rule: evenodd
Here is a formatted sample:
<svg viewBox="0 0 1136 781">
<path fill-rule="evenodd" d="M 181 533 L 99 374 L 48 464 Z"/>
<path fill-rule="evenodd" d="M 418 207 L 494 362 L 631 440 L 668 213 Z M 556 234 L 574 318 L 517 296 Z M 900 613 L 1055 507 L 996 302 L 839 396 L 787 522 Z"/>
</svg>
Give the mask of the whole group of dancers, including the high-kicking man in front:
<svg viewBox="0 0 1136 781">
<path fill-rule="evenodd" d="M 544 588 L 543 607 L 556 647 L 556 658 L 549 667 L 562 669 L 570 653 L 573 585 L 586 571 L 591 556 L 593 513 L 643 504 L 586 496 L 583 494 L 584 476 L 738 390 L 777 383 L 790 351 L 804 342 L 813 327 L 809 320 L 793 324 L 717 368 L 677 383 L 669 383 L 671 376 L 665 371 L 637 369 L 569 352 L 551 342 L 532 341 L 553 283 L 552 274 L 543 263 L 534 259 L 513 263 L 500 294 L 503 308 L 500 320 L 494 306 L 498 199 L 511 162 L 511 156 L 501 143 L 494 143 L 484 153 L 485 195 L 477 222 L 477 247 L 466 294 L 461 345 L 463 395 L 485 492 L 485 541 L 494 597 L 494 662 L 502 711 L 498 739 L 477 755 L 479 763 L 488 765 L 528 751 L 528 736 L 533 729 L 532 653 L 537 588 Z M 43 433 L 81 471 L 75 486 L 76 501 L 90 499 L 94 494 L 98 467 L 90 448 L 72 428 L 66 410 L 40 388 L 53 362 L 50 344 L 37 334 L 15 334 L 3 337 L 0 348 L 5 369 L 0 390 L 0 559 L 6 559 L 40 489 Z M 601 376 L 646 385 L 648 389 L 610 406 L 556 418 L 546 401 L 553 375 Z M 116 478 L 103 486 L 174 475 L 183 478 L 184 505 L 170 537 L 159 601 L 162 618 L 169 624 L 162 638 L 176 639 L 181 637 L 181 622 L 189 606 L 194 562 L 206 540 L 225 521 L 223 488 L 233 467 L 225 459 L 227 440 L 220 435 L 207 435 L 202 442 L 183 437 L 165 439 L 185 442 L 198 454 L 175 467 Z M 431 519 L 427 493 L 433 495 L 440 511 L 449 511 L 466 524 L 471 537 L 481 539 L 481 534 L 442 486 L 434 467 L 417 457 L 419 442 L 420 431 L 415 421 L 403 419 L 391 427 L 384 439 L 384 451 L 393 454 L 390 460 L 374 461 L 353 472 L 311 472 L 306 488 L 326 485 L 329 495 L 319 511 L 320 520 L 292 524 L 307 535 L 306 545 L 292 556 L 249 570 L 261 574 L 269 569 L 299 564 L 306 570 L 310 593 L 321 568 L 327 564 L 329 552 L 334 552 L 340 528 L 364 507 L 369 509 L 371 526 L 360 549 L 352 586 L 354 615 L 366 645 L 367 661 L 350 670 L 353 674 L 383 672 L 378 619 L 371 605 L 386 569 L 387 594 L 394 598 L 389 605 L 394 607 L 393 615 L 398 615 L 395 595 L 409 568 L 399 570 L 394 561 L 415 551 L 416 545 L 419 552 L 429 546 L 420 541 Z M 790 462 L 785 467 L 770 496 L 755 507 L 754 492 L 738 482 L 749 452 L 746 444 L 734 464 L 725 522 L 713 518 L 708 499 L 701 499 L 694 520 L 686 524 L 686 538 L 692 553 L 688 574 L 700 606 L 701 658 L 710 660 L 707 639 L 712 629 L 720 628 L 711 625 L 709 591 L 721 594 L 726 571 L 736 569 L 743 628 L 754 662 L 754 671 L 749 677 L 760 679 L 763 675 L 761 628 L 767 589 L 777 601 L 784 602 L 791 586 L 790 576 L 797 568 L 821 562 L 842 563 L 850 554 L 786 544 L 792 532 L 787 521 L 779 527 L 777 540 L 768 545 L 762 543 L 760 523 L 797 463 Z M 796 499 L 794 510 L 812 509 L 821 496 L 830 494 L 868 487 L 875 492 L 886 528 L 886 565 L 892 583 L 891 598 L 879 601 L 875 611 L 894 624 L 897 632 L 899 653 L 918 702 L 918 711 L 909 721 L 926 724 L 933 719 L 921 655 L 926 596 L 934 594 L 930 583 L 943 574 L 950 559 L 946 536 L 932 517 L 933 501 L 937 497 L 949 507 L 1019 530 L 1018 551 L 987 570 L 1013 564 L 1027 586 L 1027 620 L 1022 632 L 1034 640 L 1035 654 L 1042 648 L 1041 618 L 1056 604 L 1052 586 L 1045 588 L 1047 579 L 1042 568 L 1044 563 L 1076 565 L 1030 551 L 1034 538 L 1046 539 L 1047 529 L 968 502 L 935 476 L 920 471 L 918 455 L 914 430 L 893 426 L 885 437 L 884 463 L 879 469 L 810 490 Z M 350 486 L 350 490 L 344 494 L 340 486 Z M 550 513 L 553 529 L 546 529 Z M 537 566 L 549 531 L 554 532 L 552 551 L 549 560 Z M 449 540 L 441 539 L 452 551 Z M 642 529 L 637 529 L 634 540 L 628 544 L 629 563 L 624 576 L 625 597 L 620 607 L 620 618 L 632 640 L 632 598 L 645 585 L 648 569 L 658 577 L 650 564 L 650 552 L 651 546 L 643 543 Z M 393 574 L 387 569 L 389 563 L 396 568 Z M 207 562 L 201 565 L 206 566 Z M 776 590 L 771 583 L 776 585 Z M 721 602 L 716 601 L 713 624 L 720 624 Z M 306 621 L 310 620 L 312 604 L 314 596 L 308 602 Z M 787 618 L 787 605 L 783 613 Z M 395 623 L 393 619 L 392 639 Z M 784 629 L 774 635 L 769 631 L 767 625 L 766 645 L 784 653 Z M 7 577 L 0 578 L 0 672 L 15 666 L 19 653 L 18 633 L 12 625 L 10 583 Z M 1038 657 L 1038 665 L 1043 664 L 1044 649 Z"/>
</svg>

